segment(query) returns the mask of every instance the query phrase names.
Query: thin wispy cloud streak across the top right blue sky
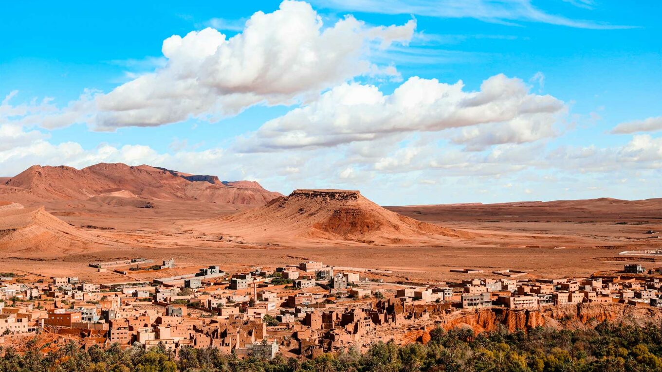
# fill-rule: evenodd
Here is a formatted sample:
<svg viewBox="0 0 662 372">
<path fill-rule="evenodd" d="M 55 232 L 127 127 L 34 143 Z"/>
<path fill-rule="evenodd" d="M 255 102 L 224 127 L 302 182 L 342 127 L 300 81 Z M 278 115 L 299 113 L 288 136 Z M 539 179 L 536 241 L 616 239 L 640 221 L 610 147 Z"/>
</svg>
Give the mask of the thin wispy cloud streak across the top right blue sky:
<svg viewBox="0 0 662 372">
<path fill-rule="evenodd" d="M 381 14 L 413 14 L 438 18 L 473 18 L 489 23 L 520 25 L 521 22 L 557 24 L 575 28 L 612 30 L 634 28 L 600 21 L 569 19 L 534 7 L 531 0 L 315 0 L 331 9 Z M 592 7 L 591 0 L 569 0 L 579 7 Z"/>
</svg>

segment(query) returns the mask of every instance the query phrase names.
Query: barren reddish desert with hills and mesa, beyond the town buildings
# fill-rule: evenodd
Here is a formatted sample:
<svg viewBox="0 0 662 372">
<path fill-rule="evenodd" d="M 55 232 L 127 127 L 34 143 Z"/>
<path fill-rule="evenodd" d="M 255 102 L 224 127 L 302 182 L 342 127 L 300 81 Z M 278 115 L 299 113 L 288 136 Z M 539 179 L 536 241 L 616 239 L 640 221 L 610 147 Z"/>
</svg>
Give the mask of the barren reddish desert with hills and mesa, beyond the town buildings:
<svg viewBox="0 0 662 372">
<path fill-rule="evenodd" d="M 620 252 L 662 248 L 645 234 L 662 230 L 662 199 L 380 207 L 359 191 L 283 196 L 255 182 L 124 164 L 34 166 L 1 181 L 0 270 L 51 276 L 141 256 L 232 269 L 301 259 L 353 266 L 361 257 L 399 279 L 462 279 L 449 273 L 461 267 L 551 277 L 618 271 L 630 260 Z"/>
</svg>

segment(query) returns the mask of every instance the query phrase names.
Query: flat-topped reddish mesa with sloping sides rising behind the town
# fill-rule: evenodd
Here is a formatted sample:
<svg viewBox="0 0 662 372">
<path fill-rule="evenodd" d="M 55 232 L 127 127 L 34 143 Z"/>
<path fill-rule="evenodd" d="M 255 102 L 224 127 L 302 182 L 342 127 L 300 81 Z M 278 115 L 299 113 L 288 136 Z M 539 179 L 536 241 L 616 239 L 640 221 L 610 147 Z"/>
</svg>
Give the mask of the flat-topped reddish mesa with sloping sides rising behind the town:
<svg viewBox="0 0 662 372">
<path fill-rule="evenodd" d="M 293 191 L 263 207 L 197 222 L 192 230 L 241 236 L 252 242 L 337 240 L 363 244 L 439 244 L 473 233 L 405 217 L 355 190 Z"/>
</svg>

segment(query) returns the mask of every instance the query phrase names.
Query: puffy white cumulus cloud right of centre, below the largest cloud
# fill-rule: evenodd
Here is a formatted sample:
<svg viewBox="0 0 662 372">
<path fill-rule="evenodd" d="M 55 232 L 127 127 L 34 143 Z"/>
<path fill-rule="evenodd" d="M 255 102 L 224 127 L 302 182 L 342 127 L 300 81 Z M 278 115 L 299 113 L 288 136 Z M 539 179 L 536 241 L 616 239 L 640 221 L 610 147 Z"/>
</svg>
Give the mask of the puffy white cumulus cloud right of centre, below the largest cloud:
<svg viewBox="0 0 662 372">
<path fill-rule="evenodd" d="M 532 94 L 522 80 L 502 74 L 483 81 L 480 91 L 464 91 L 462 81 L 447 84 L 420 77 L 411 77 L 391 95 L 374 85 L 344 83 L 305 107 L 269 120 L 238 147 L 262 152 L 338 146 L 490 124 L 453 138 L 479 149 L 553 136 L 552 125 L 564 111 L 559 99 Z"/>
</svg>

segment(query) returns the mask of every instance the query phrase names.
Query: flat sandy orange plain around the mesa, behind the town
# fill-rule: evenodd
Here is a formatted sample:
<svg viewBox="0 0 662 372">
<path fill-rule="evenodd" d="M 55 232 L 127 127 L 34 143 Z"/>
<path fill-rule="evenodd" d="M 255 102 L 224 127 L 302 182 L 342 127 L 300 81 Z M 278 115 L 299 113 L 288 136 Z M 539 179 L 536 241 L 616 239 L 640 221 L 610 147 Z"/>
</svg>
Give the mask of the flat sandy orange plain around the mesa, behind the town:
<svg viewBox="0 0 662 372">
<path fill-rule="evenodd" d="M 38 254 L 12 255 L 0 260 L 0 271 L 26 271 L 36 275 L 76 275 L 99 282 L 132 281 L 197 271 L 202 265 L 220 265 L 229 272 L 263 266 L 294 264 L 313 259 L 331 265 L 388 269 L 386 280 L 455 281 L 470 277 L 497 277 L 496 270 L 518 269 L 533 277 L 582 277 L 596 271 L 616 271 L 624 262 L 646 268 L 662 266 L 662 257 L 624 257 L 624 250 L 662 249 L 662 239 L 647 230 L 662 230 L 662 209 L 618 206 L 605 212 L 584 207 L 555 209 L 512 206 L 392 207 L 406 216 L 449 228 L 477 232 L 479 238 L 438 246 L 375 246 L 347 242 L 305 242 L 287 239 L 278 244 L 252 245 L 223 242 L 215 234 L 183 230 L 183 222 L 213 218 L 235 207 L 201 208 L 198 203 L 167 204 L 159 209 L 113 207 L 95 203 L 52 203 L 46 210 L 65 222 L 114 238 L 122 244 L 47 259 Z M 238 208 L 244 209 L 244 208 Z M 174 271 L 97 273 L 93 261 L 147 257 L 174 258 Z M 473 267 L 481 274 L 450 273 Z"/>
</svg>

